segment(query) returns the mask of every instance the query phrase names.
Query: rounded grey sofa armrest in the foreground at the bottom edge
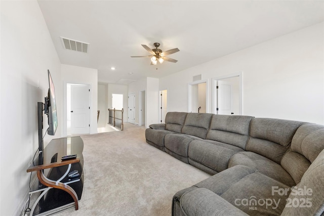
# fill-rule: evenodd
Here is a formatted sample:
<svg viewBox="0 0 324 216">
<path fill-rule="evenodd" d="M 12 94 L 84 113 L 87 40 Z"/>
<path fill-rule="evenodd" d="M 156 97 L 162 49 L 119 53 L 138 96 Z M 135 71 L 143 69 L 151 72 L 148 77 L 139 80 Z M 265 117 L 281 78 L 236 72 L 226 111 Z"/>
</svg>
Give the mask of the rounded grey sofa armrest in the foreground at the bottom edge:
<svg viewBox="0 0 324 216">
<path fill-rule="evenodd" d="M 183 194 L 180 206 L 184 215 L 248 215 L 206 188 Z"/>
</svg>

